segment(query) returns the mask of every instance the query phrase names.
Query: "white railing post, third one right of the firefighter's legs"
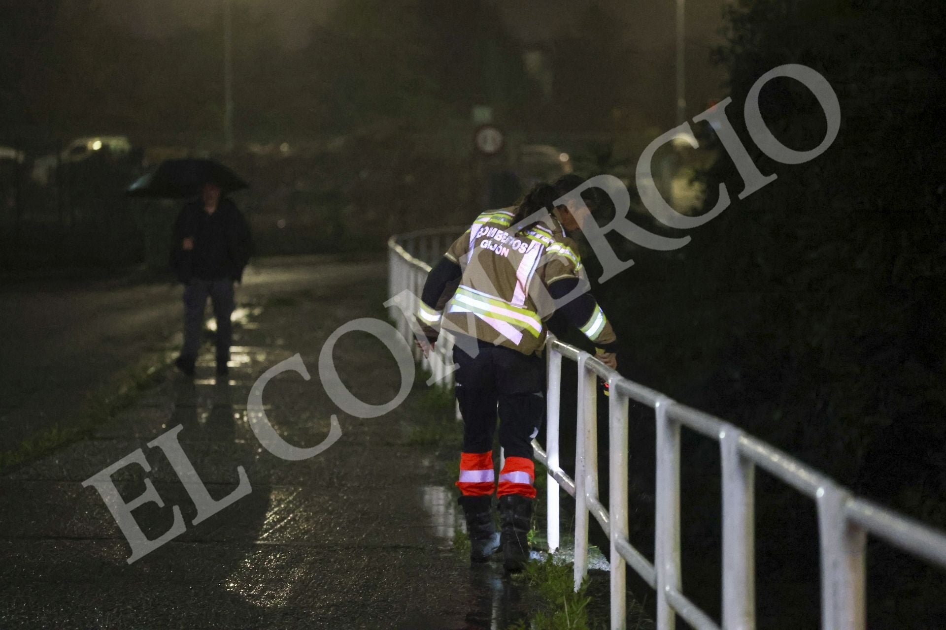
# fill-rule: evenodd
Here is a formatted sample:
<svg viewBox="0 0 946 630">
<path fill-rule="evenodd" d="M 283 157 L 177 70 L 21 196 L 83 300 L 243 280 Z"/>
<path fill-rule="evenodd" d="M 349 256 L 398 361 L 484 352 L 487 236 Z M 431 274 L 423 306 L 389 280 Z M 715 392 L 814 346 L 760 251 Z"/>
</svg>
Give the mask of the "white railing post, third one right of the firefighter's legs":
<svg viewBox="0 0 946 630">
<path fill-rule="evenodd" d="M 627 400 L 615 388 L 617 378 L 608 381 L 608 476 L 610 494 L 607 510 L 611 524 L 611 630 L 624 630 L 627 621 L 627 563 L 618 552 L 618 541 L 627 539 Z"/>
</svg>

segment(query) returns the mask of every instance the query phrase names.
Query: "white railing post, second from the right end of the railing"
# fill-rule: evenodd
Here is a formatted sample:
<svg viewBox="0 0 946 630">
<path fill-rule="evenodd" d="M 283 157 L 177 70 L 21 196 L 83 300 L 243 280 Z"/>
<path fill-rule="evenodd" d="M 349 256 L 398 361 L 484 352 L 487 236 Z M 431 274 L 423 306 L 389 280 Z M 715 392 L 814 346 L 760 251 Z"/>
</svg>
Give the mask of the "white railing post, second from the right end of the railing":
<svg viewBox="0 0 946 630">
<path fill-rule="evenodd" d="M 742 432 L 719 434 L 723 468 L 723 628 L 755 630 L 755 467 L 739 453 Z"/>
</svg>

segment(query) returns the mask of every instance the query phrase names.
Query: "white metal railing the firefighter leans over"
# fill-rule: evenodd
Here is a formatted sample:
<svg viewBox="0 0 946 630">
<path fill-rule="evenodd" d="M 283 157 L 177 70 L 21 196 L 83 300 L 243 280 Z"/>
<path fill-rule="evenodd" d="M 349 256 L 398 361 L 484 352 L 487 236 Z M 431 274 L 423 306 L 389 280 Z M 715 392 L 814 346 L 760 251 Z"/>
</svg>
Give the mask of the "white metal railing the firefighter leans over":
<svg viewBox="0 0 946 630">
<path fill-rule="evenodd" d="M 412 232 L 391 239 L 392 296 L 395 288 L 415 287 L 420 294 L 429 265 L 409 253 L 434 234 L 459 230 Z M 426 241 L 432 247 L 432 241 Z M 446 247 L 441 248 L 442 252 Z M 427 255 L 431 253 L 427 249 Z M 437 252 L 433 249 L 432 252 Z M 422 255 L 423 257 L 423 255 Z M 411 267 L 411 268 L 409 268 Z M 396 278 L 396 280 L 395 280 Z M 407 279 L 407 281 L 405 281 Z M 414 303 L 416 306 L 416 303 Z M 406 339 L 412 332 L 405 324 Z M 440 343 L 438 342 L 438 347 Z M 755 622 L 755 468 L 813 499 L 817 508 L 821 572 L 821 627 L 823 630 L 863 630 L 866 627 L 865 551 L 867 535 L 946 568 L 946 536 L 875 503 L 853 496 L 820 472 L 717 417 L 671 400 L 649 387 L 622 377 L 616 370 L 557 339 L 546 344 L 548 388 L 546 448 L 533 442 L 535 458 L 548 470 L 548 543 L 554 552 L 560 543 L 560 490 L 575 499 L 574 583 L 587 575 L 588 515 L 601 525 L 610 540 L 611 628 L 624 628 L 626 567 L 629 565 L 657 591 L 657 630 L 673 630 L 679 615 L 698 630 L 753 630 Z M 448 358 L 448 354 L 443 355 Z M 578 407 L 575 479 L 559 461 L 559 403 L 562 358 L 578 366 Z M 608 383 L 608 508 L 598 496 L 597 379 Z M 452 384 L 452 379 L 450 381 Z M 654 410 L 657 423 L 657 486 L 655 561 L 652 564 L 628 539 L 627 409 L 630 400 Z M 683 593 L 680 570 L 680 428 L 719 442 L 723 494 L 723 619 L 710 619 Z"/>
</svg>

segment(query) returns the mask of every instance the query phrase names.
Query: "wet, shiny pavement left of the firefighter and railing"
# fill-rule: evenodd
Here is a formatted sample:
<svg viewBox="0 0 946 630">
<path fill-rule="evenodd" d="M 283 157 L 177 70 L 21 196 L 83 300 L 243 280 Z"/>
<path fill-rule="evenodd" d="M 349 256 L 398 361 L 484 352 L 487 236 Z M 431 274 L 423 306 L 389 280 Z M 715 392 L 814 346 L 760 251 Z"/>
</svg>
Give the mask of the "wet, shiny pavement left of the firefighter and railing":
<svg viewBox="0 0 946 630">
<path fill-rule="evenodd" d="M 504 578 L 499 565 L 471 570 L 454 549 L 460 515 L 447 462 L 458 445 L 442 437 L 453 433 L 450 406 L 431 402 L 418 383 L 392 413 L 359 419 L 341 413 L 320 383 L 328 335 L 355 318 L 384 316 L 385 274 L 383 264 L 314 265 L 245 288 L 228 378 L 214 376 L 205 346 L 194 381 L 168 372 L 92 438 L 0 477 L 0 627 L 459 630 L 501 629 L 521 617 L 521 581 Z M 286 461 L 251 431 L 247 397 L 260 374 L 296 353 L 312 379 L 289 372 L 267 385 L 273 427 L 311 447 L 337 414 L 342 437 Z M 346 334 L 333 356 L 359 399 L 396 395 L 397 366 L 376 338 Z M 214 500 L 236 490 L 237 467 L 252 487 L 196 525 L 165 452 L 148 446 L 178 425 Z M 129 564 L 125 536 L 82 482 L 139 449 L 150 470 L 120 468 L 115 485 L 131 502 L 149 482 L 164 506 L 142 504 L 135 521 L 157 538 L 178 506 L 186 531 Z"/>
</svg>

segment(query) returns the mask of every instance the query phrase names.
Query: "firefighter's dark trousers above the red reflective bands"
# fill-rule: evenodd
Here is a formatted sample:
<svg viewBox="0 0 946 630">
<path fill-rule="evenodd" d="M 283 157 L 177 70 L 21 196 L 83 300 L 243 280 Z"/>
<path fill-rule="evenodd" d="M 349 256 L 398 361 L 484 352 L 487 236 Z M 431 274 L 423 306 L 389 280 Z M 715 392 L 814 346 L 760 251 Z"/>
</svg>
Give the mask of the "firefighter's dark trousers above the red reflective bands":
<svg viewBox="0 0 946 630">
<path fill-rule="evenodd" d="M 545 420 L 545 362 L 491 344 L 476 357 L 458 344 L 453 361 L 459 366 L 456 392 L 464 417 L 464 452 L 492 450 L 499 412 L 499 446 L 505 456 L 532 459 L 532 440 Z"/>
</svg>

